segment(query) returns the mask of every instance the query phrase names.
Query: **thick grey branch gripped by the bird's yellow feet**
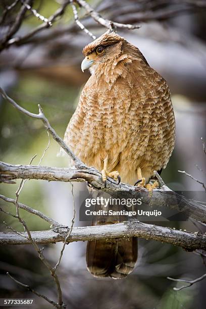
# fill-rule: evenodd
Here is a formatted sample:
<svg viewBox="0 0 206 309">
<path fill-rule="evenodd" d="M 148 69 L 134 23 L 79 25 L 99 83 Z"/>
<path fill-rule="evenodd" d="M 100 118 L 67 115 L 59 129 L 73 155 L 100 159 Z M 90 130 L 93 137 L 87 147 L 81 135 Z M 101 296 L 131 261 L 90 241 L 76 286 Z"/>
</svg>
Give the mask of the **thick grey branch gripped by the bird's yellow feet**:
<svg viewBox="0 0 206 309">
<path fill-rule="evenodd" d="M 206 223 L 206 207 L 194 200 L 189 200 L 163 185 L 153 190 L 152 195 L 144 188 L 120 183 L 109 178 L 107 188 L 102 182 L 101 173 L 92 167 L 53 168 L 32 165 L 13 165 L 0 162 L 0 180 L 9 182 L 13 179 L 42 179 L 48 181 L 87 181 L 93 188 L 104 191 L 137 191 L 147 198 L 148 204 L 162 205 L 178 212 L 186 212 L 191 218 Z"/>
</svg>

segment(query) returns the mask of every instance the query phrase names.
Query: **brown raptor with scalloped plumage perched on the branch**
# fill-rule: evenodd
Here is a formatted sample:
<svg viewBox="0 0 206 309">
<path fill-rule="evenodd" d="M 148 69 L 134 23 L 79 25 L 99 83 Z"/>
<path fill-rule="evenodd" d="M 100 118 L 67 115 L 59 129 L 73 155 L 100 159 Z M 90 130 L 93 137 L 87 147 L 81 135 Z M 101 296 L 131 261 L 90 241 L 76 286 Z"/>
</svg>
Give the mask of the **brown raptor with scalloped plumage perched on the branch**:
<svg viewBox="0 0 206 309">
<path fill-rule="evenodd" d="M 169 87 L 139 49 L 116 33 L 83 49 L 82 71 L 91 76 L 65 132 L 65 142 L 87 166 L 134 185 L 166 168 L 175 141 Z M 113 222 L 110 222 L 113 223 Z M 99 220 L 94 224 L 102 224 Z M 124 278 L 137 259 L 137 238 L 87 244 L 87 267 L 97 277 Z"/>
</svg>

